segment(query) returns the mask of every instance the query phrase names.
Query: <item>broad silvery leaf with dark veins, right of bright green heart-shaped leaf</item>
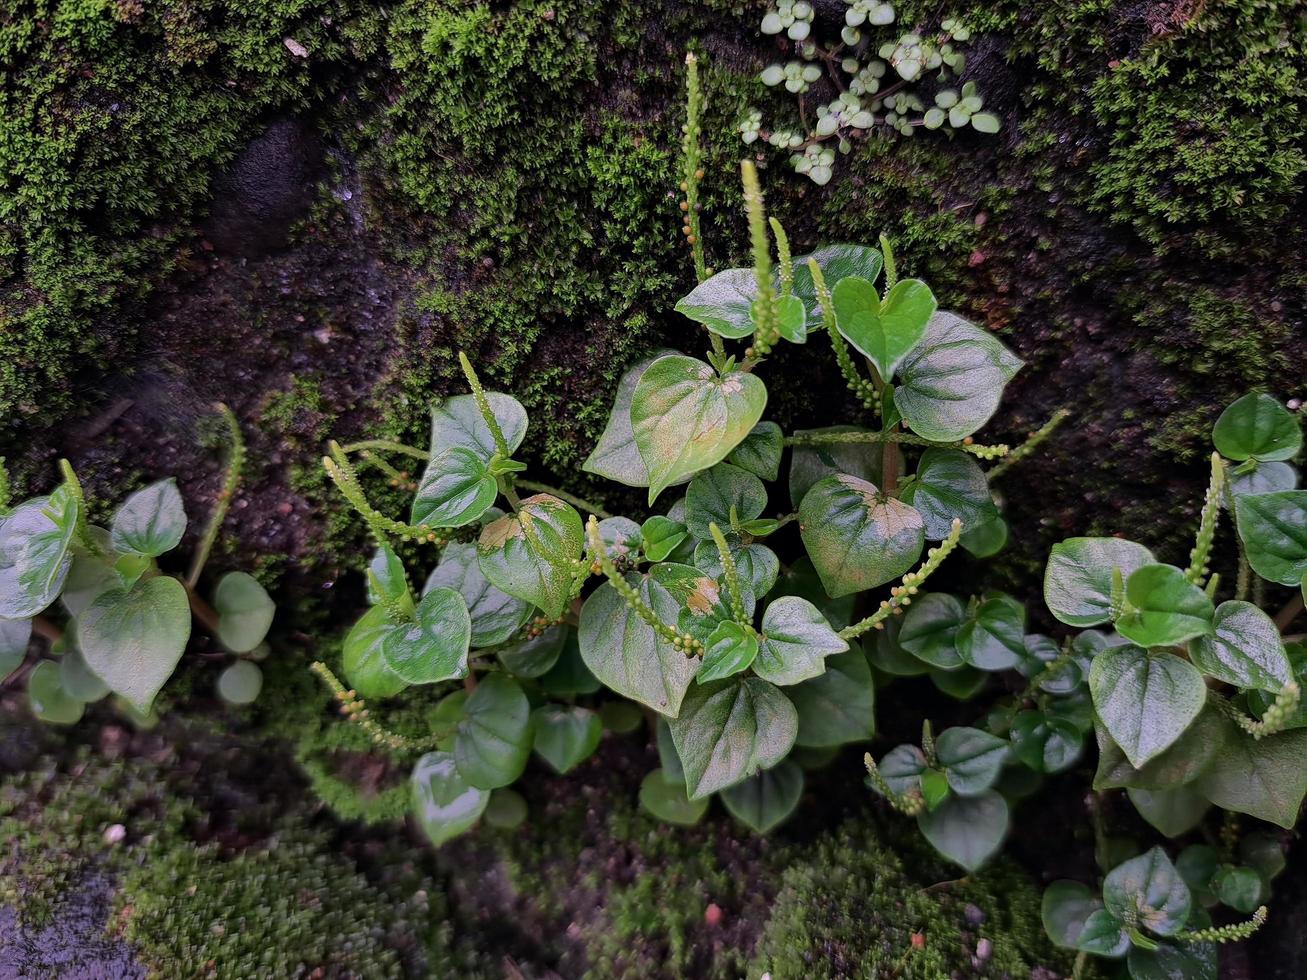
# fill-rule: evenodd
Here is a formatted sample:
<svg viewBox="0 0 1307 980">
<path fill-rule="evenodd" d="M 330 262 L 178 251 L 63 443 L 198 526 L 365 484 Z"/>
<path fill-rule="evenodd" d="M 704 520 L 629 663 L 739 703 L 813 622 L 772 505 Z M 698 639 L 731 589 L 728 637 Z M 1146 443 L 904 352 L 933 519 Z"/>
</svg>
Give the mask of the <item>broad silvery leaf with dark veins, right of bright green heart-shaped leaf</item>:
<svg viewBox="0 0 1307 980">
<path fill-rule="evenodd" d="M 997 338 L 941 310 L 899 366 L 894 405 L 920 436 L 963 439 L 989 421 L 1019 368 L 1021 359 Z"/>
</svg>

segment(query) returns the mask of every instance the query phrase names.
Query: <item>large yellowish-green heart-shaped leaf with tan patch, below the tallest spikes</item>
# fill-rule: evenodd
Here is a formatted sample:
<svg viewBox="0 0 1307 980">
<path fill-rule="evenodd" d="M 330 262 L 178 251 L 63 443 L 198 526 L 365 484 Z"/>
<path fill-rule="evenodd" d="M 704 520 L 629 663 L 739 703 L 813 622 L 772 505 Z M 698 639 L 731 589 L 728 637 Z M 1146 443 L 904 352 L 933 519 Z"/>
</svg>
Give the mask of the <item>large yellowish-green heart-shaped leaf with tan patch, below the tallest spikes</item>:
<svg viewBox="0 0 1307 980">
<path fill-rule="evenodd" d="M 650 474 L 650 504 L 682 477 L 724 460 L 766 405 L 767 389 L 757 375 L 718 375 L 684 354 L 665 354 L 650 365 L 631 399 L 631 429 Z"/>
</svg>

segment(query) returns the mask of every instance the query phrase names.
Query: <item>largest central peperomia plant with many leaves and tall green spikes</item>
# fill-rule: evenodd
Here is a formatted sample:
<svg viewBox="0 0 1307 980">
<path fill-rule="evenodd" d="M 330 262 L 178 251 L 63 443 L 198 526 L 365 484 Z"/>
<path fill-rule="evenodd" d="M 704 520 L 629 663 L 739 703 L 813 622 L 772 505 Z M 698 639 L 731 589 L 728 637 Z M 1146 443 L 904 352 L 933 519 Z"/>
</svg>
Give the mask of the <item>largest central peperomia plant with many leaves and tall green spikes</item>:
<svg viewBox="0 0 1307 980">
<path fill-rule="evenodd" d="M 887 242 L 793 257 L 749 162 L 753 264 L 708 274 L 693 56 L 689 94 L 681 206 L 701 281 L 676 310 L 710 346 L 627 370 L 584 464 L 647 489 L 650 510 L 614 516 L 525 480 L 515 453 L 527 412 L 485 391 L 461 354 L 471 392 L 433 409 L 427 448 L 333 443 L 324 459 L 378 550 L 345 679 L 314 669 L 378 743 L 420 755 L 414 809 L 437 844 L 484 814 L 520 819 L 508 787 L 532 753 L 559 772 L 576 766 L 599 745 L 600 711 L 638 724 L 638 712 L 596 710 L 601 687 L 655 729 L 648 810 L 694 822 L 720 796 L 748 826 L 774 827 L 797 805 L 805 766 L 874 732 L 864 640 L 897 626 L 959 545 L 984 554 L 1005 537 L 982 464 L 1008 447 L 972 434 L 1021 361 L 901 278 Z M 765 418 L 769 359 L 809 341 L 830 345 L 861 417 L 787 435 Z M 363 452 L 425 464 L 406 520 L 370 502 L 354 465 Z M 439 547 L 421 589 L 400 542 Z M 933 676 L 953 693 L 974 687 L 974 670 L 957 660 Z M 431 687 L 423 737 L 387 729 L 375 710 L 413 686 Z"/>
</svg>

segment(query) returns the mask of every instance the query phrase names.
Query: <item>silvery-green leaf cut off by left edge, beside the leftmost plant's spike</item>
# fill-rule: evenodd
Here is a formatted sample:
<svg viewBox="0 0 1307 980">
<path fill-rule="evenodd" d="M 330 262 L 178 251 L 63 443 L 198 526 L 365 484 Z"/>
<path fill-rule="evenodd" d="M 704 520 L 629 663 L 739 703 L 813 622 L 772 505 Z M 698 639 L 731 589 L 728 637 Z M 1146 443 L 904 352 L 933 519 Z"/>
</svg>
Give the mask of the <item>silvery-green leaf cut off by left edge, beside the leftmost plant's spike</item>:
<svg viewBox="0 0 1307 980">
<path fill-rule="evenodd" d="M 59 596 L 73 561 L 78 510 L 60 486 L 0 519 L 0 618 L 29 619 Z"/>
</svg>

